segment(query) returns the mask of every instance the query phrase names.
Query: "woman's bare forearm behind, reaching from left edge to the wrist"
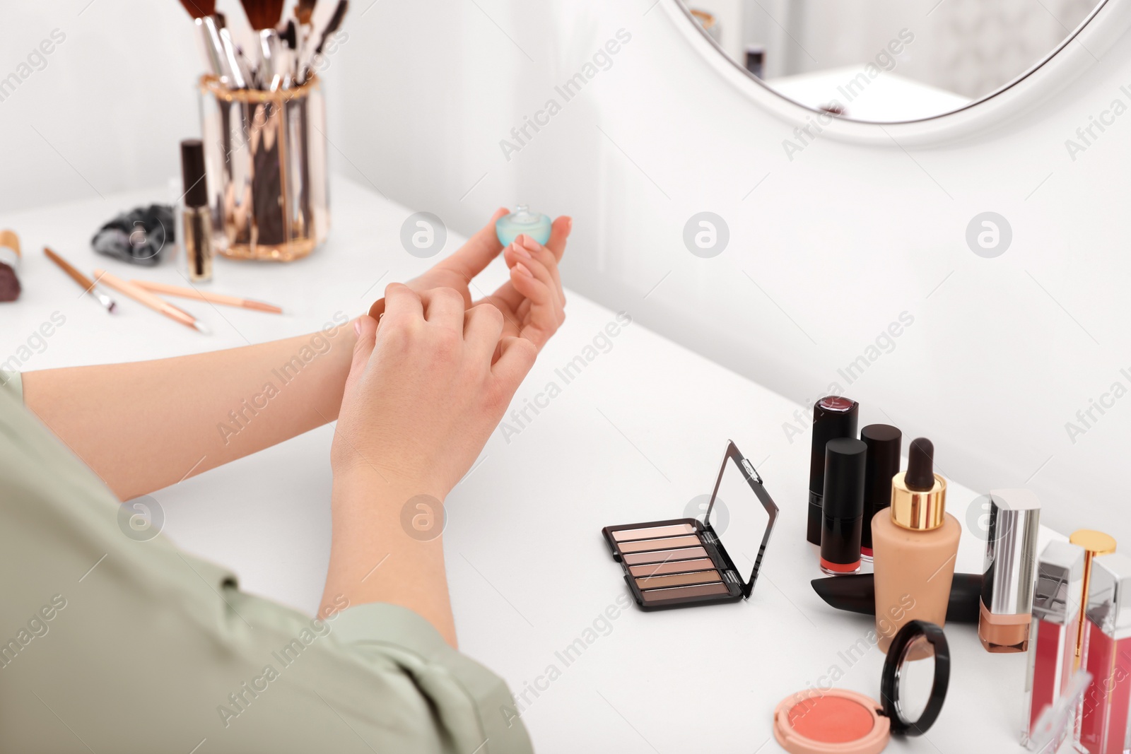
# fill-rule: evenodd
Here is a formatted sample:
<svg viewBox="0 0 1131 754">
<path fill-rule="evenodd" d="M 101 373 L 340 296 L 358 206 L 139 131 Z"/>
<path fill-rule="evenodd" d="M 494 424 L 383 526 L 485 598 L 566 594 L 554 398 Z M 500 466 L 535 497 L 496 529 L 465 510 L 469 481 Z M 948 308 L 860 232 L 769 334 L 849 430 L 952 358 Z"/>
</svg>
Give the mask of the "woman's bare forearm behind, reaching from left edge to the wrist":
<svg viewBox="0 0 1131 754">
<path fill-rule="evenodd" d="M 192 356 L 24 374 L 24 402 L 120 500 L 333 422 L 356 336 L 318 332 Z"/>
</svg>

